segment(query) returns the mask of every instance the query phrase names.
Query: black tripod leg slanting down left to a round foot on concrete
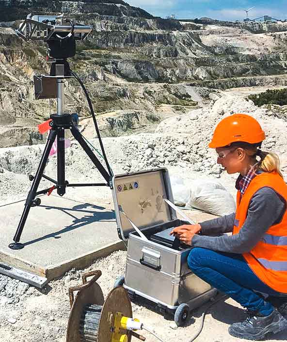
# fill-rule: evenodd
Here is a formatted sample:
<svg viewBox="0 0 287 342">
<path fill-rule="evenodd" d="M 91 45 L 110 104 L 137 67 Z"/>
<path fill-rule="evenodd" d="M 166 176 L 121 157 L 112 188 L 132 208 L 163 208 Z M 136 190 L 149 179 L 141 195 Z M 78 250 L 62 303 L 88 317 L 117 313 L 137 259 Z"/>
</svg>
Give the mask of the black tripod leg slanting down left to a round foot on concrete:
<svg viewBox="0 0 287 342">
<path fill-rule="evenodd" d="M 47 144 L 46 144 L 44 152 L 42 154 L 42 158 L 41 158 L 40 164 L 38 166 L 37 172 L 35 174 L 35 178 L 34 178 L 33 183 L 32 183 L 32 187 L 31 187 L 31 189 L 29 191 L 29 194 L 27 196 L 27 200 L 26 200 L 26 203 L 25 203 L 24 211 L 22 213 L 20 222 L 18 224 L 18 228 L 16 230 L 16 234 L 15 234 L 15 236 L 13 238 L 13 240 L 15 242 L 12 242 L 12 243 L 9 244 L 9 248 L 11 248 L 11 249 L 21 249 L 21 248 L 24 247 L 24 245 L 22 243 L 20 243 L 19 240 L 20 240 L 20 237 L 21 237 L 24 225 L 26 223 L 26 220 L 27 220 L 27 217 L 28 217 L 31 205 L 32 205 L 32 201 L 34 200 L 34 198 L 36 196 L 37 188 L 38 188 L 38 186 L 40 184 L 43 172 L 45 170 L 45 167 L 46 167 L 46 164 L 47 164 L 47 161 L 48 161 L 49 153 L 51 151 L 51 148 L 52 148 L 52 145 L 53 145 L 53 143 L 55 141 L 56 136 L 57 136 L 56 131 L 51 129 L 50 133 L 49 133 L 49 136 L 48 136 Z"/>
</svg>

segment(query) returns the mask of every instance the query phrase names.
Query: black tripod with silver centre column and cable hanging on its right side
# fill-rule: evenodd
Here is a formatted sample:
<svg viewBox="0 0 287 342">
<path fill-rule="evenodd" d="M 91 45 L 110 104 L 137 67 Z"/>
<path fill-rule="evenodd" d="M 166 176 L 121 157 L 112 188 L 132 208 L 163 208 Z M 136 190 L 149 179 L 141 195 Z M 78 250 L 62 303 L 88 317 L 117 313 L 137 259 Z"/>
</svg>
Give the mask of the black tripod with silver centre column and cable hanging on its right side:
<svg viewBox="0 0 287 342">
<path fill-rule="evenodd" d="M 58 72 L 61 75 L 59 75 Z M 86 186 L 93 186 L 93 187 L 94 186 L 108 186 L 109 187 L 110 181 L 112 179 L 112 170 L 109 166 L 109 163 L 107 161 L 107 157 L 106 157 L 103 145 L 102 145 L 99 130 L 96 124 L 96 118 L 95 118 L 95 114 L 93 111 L 92 103 L 84 85 L 80 81 L 79 77 L 73 71 L 70 70 L 68 62 L 66 60 L 54 62 L 51 66 L 50 75 L 51 74 L 53 75 L 52 77 L 56 77 L 57 79 L 57 114 L 52 114 L 50 116 L 51 121 L 49 124 L 51 126 L 51 129 L 48 135 L 48 140 L 47 140 L 44 152 L 42 154 L 41 161 L 36 171 L 36 174 L 35 176 L 30 176 L 30 180 L 33 181 L 32 187 L 27 196 L 24 211 L 22 213 L 20 222 L 18 224 L 16 234 L 13 238 L 14 242 L 9 244 L 9 247 L 11 249 L 21 249 L 25 246 L 23 243 L 20 243 L 19 241 L 20 241 L 20 237 L 24 229 L 30 208 L 32 206 L 37 206 L 41 204 L 40 198 L 35 199 L 36 196 L 40 194 L 46 194 L 52 189 L 57 189 L 57 193 L 60 196 L 63 196 L 65 194 L 65 189 L 67 187 L 86 187 Z M 90 149 L 90 147 L 86 143 L 85 139 L 80 134 L 77 128 L 77 125 L 75 124 L 73 120 L 73 116 L 71 114 L 64 114 L 64 78 L 71 77 L 71 76 L 74 76 L 80 82 L 80 85 L 84 89 L 84 92 L 87 96 L 87 100 L 88 100 L 88 103 L 92 112 L 92 116 L 94 119 L 97 136 L 99 138 L 100 146 L 102 149 L 103 157 L 105 159 L 108 171 L 106 171 L 106 169 L 102 166 L 100 161 L 97 159 L 96 155 L 93 153 L 93 151 Z M 104 177 L 106 183 L 69 184 L 65 180 L 64 137 L 65 137 L 66 129 L 69 129 L 71 131 L 73 137 L 79 142 L 80 146 L 83 148 L 83 150 L 92 160 L 92 162 L 94 163 L 98 171 Z M 49 157 L 52 145 L 56 138 L 57 138 L 57 181 L 44 174 L 44 170 L 48 162 L 48 157 Z M 54 186 L 52 188 L 47 188 L 44 190 L 37 191 L 42 177 L 54 183 Z"/>
</svg>

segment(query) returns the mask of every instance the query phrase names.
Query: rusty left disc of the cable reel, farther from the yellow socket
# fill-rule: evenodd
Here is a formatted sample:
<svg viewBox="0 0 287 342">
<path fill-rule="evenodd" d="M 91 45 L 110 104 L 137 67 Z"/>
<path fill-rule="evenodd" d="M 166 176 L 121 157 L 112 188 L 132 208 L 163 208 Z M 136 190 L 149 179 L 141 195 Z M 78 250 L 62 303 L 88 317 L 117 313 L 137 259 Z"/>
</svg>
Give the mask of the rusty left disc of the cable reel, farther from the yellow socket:
<svg viewBox="0 0 287 342">
<path fill-rule="evenodd" d="M 68 321 L 66 342 L 80 342 L 80 318 L 87 304 L 104 304 L 104 295 L 100 286 L 95 282 L 89 288 L 80 290 L 74 300 Z"/>
</svg>

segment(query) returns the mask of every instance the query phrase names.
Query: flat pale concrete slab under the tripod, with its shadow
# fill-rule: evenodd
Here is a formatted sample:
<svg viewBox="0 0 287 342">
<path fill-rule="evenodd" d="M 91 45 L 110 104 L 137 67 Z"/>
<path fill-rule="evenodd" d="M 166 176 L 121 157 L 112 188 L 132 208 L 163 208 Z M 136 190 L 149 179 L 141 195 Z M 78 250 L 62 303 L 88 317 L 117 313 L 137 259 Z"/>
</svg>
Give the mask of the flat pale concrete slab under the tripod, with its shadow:
<svg viewBox="0 0 287 342">
<path fill-rule="evenodd" d="M 111 205 L 83 203 L 55 195 L 41 196 L 32 207 L 20 242 L 11 250 L 25 201 L 0 206 L 0 261 L 49 280 L 124 247 Z"/>
</svg>

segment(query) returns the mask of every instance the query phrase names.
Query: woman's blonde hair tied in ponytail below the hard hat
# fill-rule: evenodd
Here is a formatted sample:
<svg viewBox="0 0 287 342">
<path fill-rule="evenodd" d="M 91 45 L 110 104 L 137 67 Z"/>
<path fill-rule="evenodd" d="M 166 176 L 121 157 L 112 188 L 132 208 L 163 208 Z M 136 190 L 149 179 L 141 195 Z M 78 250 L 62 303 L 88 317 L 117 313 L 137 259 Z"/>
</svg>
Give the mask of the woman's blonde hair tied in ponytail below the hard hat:
<svg viewBox="0 0 287 342">
<path fill-rule="evenodd" d="M 260 160 L 256 165 L 256 170 L 261 170 L 263 172 L 277 172 L 282 178 L 283 174 L 280 171 L 280 160 L 277 154 L 273 152 L 261 151 L 258 147 L 260 144 L 249 144 L 247 142 L 234 142 L 231 144 L 232 147 L 242 148 L 246 151 L 249 156 L 259 157 Z"/>
</svg>

